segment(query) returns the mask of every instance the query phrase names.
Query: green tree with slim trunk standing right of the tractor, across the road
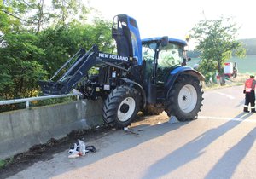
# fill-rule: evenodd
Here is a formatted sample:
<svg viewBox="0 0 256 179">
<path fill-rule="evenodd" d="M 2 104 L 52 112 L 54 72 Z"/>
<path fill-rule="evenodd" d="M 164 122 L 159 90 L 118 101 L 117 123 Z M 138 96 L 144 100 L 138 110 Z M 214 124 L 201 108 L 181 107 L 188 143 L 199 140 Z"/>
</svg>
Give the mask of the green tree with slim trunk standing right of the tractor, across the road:
<svg viewBox="0 0 256 179">
<path fill-rule="evenodd" d="M 238 35 L 236 23 L 231 18 L 220 17 L 218 20 L 201 20 L 191 30 L 191 38 L 195 38 L 195 49 L 201 52 L 202 61 L 216 61 L 209 63 L 218 71 L 220 84 L 224 85 L 224 61 L 231 58 L 232 52 L 239 57 L 244 57 L 246 50 L 242 43 L 236 40 Z M 207 62 L 202 65 L 209 65 Z M 214 66 L 214 65 L 217 66 Z M 204 66 L 201 66 L 201 69 Z M 206 67 L 207 68 L 207 67 Z M 211 68 L 212 69 L 212 68 Z M 210 71 L 211 73 L 212 71 Z M 207 72 L 204 72 L 206 75 Z"/>
</svg>

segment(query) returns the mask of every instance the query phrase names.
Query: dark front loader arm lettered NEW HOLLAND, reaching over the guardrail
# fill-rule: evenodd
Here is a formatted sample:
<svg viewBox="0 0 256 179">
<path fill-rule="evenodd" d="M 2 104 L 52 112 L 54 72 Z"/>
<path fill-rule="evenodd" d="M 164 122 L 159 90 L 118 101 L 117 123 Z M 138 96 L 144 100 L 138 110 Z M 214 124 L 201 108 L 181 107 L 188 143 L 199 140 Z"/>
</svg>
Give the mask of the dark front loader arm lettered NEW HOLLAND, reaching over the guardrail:
<svg viewBox="0 0 256 179">
<path fill-rule="evenodd" d="M 76 88 L 77 84 L 88 75 L 90 68 L 97 64 L 105 64 L 107 66 L 113 66 L 122 71 L 129 72 L 128 69 L 124 66 L 120 66 L 119 64 L 130 64 L 132 62 L 131 57 L 99 52 L 96 45 L 92 46 L 92 48 L 90 48 L 86 53 L 85 50 L 79 50 L 76 55 L 78 55 L 77 60 L 73 62 L 73 64 L 67 69 L 67 72 L 64 72 L 61 78 L 57 81 L 53 81 L 52 79 L 58 76 L 61 70 L 65 69 L 75 55 L 61 66 L 49 81 L 39 81 L 39 85 L 44 95 L 62 95 L 70 93 Z"/>
</svg>

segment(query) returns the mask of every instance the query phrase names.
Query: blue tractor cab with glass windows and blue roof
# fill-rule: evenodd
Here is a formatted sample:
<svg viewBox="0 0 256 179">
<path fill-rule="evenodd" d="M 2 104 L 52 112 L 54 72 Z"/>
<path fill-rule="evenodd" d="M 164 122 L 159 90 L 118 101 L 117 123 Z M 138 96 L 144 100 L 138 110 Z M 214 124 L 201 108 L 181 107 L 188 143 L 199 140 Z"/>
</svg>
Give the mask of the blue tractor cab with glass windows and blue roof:
<svg viewBox="0 0 256 179">
<path fill-rule="evenodd" d="M 142 42 L 144 87 L 147 89 L 148 102 L 155 103 L 160 98 L 165 99 L 165 90 L 163 89 L 170 72 L 188 61 L 184 50 L 187 43 L 168 37 L 147 38 Z"/>
</svg>

